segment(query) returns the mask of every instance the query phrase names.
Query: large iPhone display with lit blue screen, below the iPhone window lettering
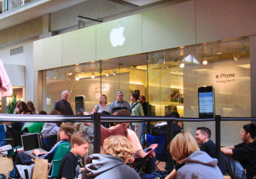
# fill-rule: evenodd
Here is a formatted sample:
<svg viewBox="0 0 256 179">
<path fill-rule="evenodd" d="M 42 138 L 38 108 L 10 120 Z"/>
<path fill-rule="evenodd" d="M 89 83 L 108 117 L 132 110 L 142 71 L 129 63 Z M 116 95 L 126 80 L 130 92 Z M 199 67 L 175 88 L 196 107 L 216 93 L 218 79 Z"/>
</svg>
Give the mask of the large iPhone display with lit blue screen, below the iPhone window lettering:
<svg viewBox="0 0 256 179">
<path fill-rule="evenodd" d="M 198 88 L 199 118 L 214 117 L 214 89 L 212 86 Z"/>
</svg>

